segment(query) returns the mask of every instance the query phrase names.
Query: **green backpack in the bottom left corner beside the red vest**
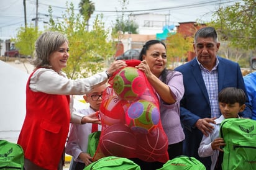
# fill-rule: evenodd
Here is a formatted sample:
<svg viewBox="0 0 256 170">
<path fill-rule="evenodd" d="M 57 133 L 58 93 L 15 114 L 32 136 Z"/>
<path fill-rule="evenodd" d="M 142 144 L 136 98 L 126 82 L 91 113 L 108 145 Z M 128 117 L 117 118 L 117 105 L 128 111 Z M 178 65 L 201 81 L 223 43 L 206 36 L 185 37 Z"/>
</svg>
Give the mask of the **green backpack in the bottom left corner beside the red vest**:
<svg viewBox="0 0 256 170">
<path fill-rule="evenodd" d="M 23 169 L 24 151 L 21 146 L 0 140 L 0 169 Z"/>
</svg>

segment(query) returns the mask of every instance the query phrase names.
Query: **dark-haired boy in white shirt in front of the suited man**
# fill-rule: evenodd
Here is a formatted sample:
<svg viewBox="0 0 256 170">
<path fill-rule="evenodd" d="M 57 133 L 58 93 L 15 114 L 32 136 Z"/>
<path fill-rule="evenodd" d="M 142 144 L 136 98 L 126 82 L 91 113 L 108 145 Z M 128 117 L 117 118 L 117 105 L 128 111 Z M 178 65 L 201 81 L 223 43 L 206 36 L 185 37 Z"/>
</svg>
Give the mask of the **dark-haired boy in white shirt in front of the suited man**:
<svg viewBox="0 0 256 170">
<path fill-rule="evenodd" d="M 222 115 L 215 120 L 213 133 L 203 135 L 198 148 L 200 157 L 211 156 L 211 170 L 216 166 L 219 151 L 223 151 L 220 146 L 225 145 L 223 138 L 219 137 L 221 122 L 224 119 L 240 118 L 238 114 L 245 109 L 245 101 L 246 96 L 242 89 L 226 87 L 219 92 L 219 109 Z"/>
</svg>

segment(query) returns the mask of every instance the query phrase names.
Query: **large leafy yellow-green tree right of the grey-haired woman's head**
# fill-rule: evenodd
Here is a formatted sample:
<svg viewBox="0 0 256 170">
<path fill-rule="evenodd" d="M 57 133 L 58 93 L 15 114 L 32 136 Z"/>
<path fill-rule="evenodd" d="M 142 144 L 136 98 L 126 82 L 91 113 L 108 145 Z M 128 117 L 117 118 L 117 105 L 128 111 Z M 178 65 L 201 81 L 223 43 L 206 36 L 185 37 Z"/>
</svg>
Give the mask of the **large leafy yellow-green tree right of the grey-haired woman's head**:
<svg viewBox="0 0 256 170">
<path fill-rule="evenodd" d="M 106 67 L 105 61 L 114 54 L 112 42 L 107 42 L 108 30 L 104 29 L 102 16 L 94 20 L 93 30 L 86 29 L 87 21 L 81 14 L 75 14 L 73 3 L 66 3 L 66 13 L 63 19 L 53 20 L 52 8 L 50 13 L 50 30 L 62 32 L 69 41 L 70 58 L 63 71 L 68 78 L 85 78 L 98 73 Z"/>
</svg>

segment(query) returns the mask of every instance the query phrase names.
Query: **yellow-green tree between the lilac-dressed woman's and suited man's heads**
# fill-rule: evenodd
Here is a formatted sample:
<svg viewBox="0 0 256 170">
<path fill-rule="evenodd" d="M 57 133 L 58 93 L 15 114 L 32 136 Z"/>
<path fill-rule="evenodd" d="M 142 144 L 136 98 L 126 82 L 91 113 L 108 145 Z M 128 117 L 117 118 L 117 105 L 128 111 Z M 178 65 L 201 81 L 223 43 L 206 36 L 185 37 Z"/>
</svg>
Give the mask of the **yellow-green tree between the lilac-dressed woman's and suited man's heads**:
<svg viewBox="0 0 256 170">
<path fill-rule="evenodd" d="M 193 51 L 193 38 L 184 37 L 180 33 L 169 34 L 166 40 L 168 64 L 175 63 L 177 60 L 185 61 L 188 51 Z M 175 67 L 175 65 L 173 65 Z"/>
</svg>

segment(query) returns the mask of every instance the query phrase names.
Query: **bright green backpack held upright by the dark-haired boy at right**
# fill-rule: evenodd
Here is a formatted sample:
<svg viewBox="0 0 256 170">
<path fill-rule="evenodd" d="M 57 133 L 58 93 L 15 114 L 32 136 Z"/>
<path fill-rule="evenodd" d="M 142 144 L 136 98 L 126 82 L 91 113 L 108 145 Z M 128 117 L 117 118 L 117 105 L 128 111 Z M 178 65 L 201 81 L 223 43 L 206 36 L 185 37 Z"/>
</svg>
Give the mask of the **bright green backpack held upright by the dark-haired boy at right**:
<svg viewBox="0 0 256 170">
<path fill-rule="evenodd" d="M 222 169 L 256 169 L 256 121 L 252 119 L 225 119 L 220 136 L 223 147 Z"/>
</svg>

